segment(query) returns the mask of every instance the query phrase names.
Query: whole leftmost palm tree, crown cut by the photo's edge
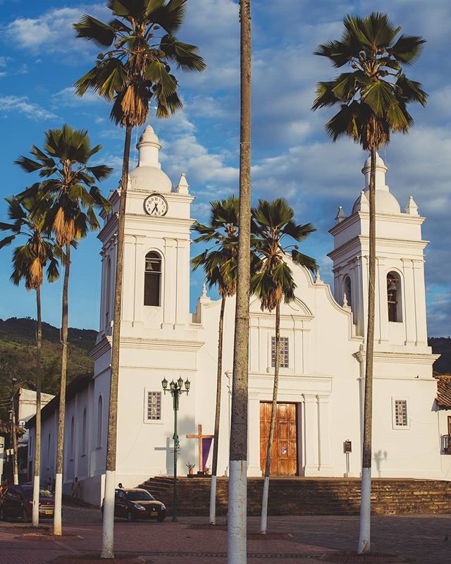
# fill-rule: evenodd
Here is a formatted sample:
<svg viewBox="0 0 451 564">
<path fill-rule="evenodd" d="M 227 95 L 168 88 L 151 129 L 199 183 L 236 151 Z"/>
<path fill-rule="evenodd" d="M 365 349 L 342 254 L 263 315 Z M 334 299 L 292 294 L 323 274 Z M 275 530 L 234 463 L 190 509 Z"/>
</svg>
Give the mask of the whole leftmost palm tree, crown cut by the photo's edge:
<svg viewBox="0 0 451 564">
<path fill-rule="evenodd" d="M 11 280 L 16 286 L 25 282 L 25 288 L 36 292 L 36 436 L 35 436 L 35 475 L 33 479 L 32 525 L 39 525 L 39 477 L 41 472 L 41 350 L 42 317 L 41 286 L 44 281 L 44 268 L 47 266 L 47 280 L 54 282 L 59 277 L 58 259 L 61 249 L 44 233 L 44 212 L 47 199 L 30 197 L 23 202 L 15 198 L 5 198 L 8 202 L 8 219 L 13 223 L 0 223 L 1 231 L 11 231 L 0 240 L 0 249 L 10 245 L 16 237 L 25 239 L 13 252 L 13 274 Z"/>
</svg>

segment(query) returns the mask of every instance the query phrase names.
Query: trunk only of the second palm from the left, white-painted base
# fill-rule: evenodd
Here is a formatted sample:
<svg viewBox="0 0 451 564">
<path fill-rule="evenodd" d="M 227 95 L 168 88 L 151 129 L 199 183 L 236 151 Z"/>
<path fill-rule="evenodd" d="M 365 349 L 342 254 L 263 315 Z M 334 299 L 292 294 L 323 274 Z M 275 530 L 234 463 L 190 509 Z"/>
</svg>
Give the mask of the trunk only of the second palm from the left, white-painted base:
<svg viewBox="0 0 451 564">
<path fill-rule="evenodd" d="M 61 319 L 61 380 L 59 383 L 58 410 L 58 441 L 56 443 L 56 472 L 55 472 L 55 515 L 54 534 L 63 534 L 62 503 L 63 503 L 63 465 L 64 465 L 64 416 L 66 413 L 66 376 L 68 367 L 68 289 L 70 274 L 70 243 L 66 243 L 66 258 L 64 264 L 63 282 L 63 314 Z"/>
</svg>

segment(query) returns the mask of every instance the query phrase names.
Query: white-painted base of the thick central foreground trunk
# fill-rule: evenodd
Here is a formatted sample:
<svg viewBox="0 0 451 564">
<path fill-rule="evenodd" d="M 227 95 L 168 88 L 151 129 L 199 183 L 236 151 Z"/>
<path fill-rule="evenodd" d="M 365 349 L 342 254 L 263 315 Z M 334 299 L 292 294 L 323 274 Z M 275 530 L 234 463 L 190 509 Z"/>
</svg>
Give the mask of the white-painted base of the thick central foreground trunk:
<svg viewBox="0 0 451 564">
<path fill-rule="evenodd" d="M 247 461 L 230 460 L 228 479 L 227 563 L 247 563 Z"/>
</svg>

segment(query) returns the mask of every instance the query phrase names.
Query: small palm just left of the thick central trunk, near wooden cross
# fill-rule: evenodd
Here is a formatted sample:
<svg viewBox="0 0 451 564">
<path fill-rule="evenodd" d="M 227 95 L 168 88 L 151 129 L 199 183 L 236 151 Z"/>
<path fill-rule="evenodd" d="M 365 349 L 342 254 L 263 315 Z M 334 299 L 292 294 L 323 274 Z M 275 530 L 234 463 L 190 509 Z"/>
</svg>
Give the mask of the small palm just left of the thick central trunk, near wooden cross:
<svg viewBox="0 0 451 564">
<path fill-rule="evenodd" d="M 216 524 L 216 473 L 218 470 L 219 421 L 221 418 L 221 386 L 223 372 L 223 325 L 226 299 L 237 290 L 237 232 L 240 202 L 237 197 L 211 202 L 210 224 L 196 222 L 193 231 L 199 233 L 194 243 L 214 241 L 214 246 L 191 261 L 192 269 L 202 266 L 208 286 L 218 286 L 221 311 L 218 329 L 218 370 L 216 376 L 216 412 L 214 418 L 213 462 L 211 465 L 210 523 Z"/>
</svg>

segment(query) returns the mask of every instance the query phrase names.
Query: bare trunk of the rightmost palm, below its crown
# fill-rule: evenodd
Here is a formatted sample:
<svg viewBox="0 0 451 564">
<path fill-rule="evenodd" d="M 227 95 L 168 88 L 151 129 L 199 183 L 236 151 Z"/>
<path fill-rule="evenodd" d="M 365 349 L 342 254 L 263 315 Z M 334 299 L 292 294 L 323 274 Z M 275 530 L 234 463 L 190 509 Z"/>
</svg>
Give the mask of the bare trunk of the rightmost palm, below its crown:
<svg viewBox="0 0 451 564">
<path fill-rule="evenodd" d="M 362 446 L 362 501 L 360 503 L 359 554 L 371 551 L 371 425 L 373 419 L 374 301 L 376 286 L 376 147 L 371 147 L 369 180 L 369 285 L 366 328 L 364 440 Z"/>
</svg>

